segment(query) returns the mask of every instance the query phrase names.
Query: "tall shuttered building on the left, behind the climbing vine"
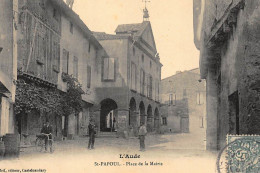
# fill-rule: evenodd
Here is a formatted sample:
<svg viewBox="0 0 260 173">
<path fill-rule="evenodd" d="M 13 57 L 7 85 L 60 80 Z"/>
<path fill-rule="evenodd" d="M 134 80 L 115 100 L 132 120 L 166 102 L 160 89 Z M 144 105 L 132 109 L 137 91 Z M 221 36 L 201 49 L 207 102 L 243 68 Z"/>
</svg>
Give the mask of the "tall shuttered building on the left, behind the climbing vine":
<svg viewBox="0 0 260 173">
<path fill-rule="evenodd" d="M 45 109 L 16 117 L 22 142 L 31 143 L 45 121 L 56 139 L 87 134 L 95 86 L 100 86 L 98 64 L 106 52 L 79 16 L 62 0 L 19 0 L 18 78 L 45 89 L 67 91 L 64 76 L 73 75 L 82 86 L 83 111 L 58 116 Z M 99 77 L 99 76 L 100 77 Z M 95 79 L 100 80 L 95 80 Z"/>
</svg>

